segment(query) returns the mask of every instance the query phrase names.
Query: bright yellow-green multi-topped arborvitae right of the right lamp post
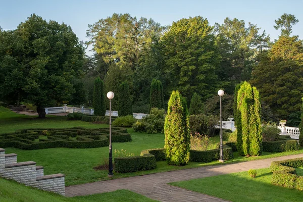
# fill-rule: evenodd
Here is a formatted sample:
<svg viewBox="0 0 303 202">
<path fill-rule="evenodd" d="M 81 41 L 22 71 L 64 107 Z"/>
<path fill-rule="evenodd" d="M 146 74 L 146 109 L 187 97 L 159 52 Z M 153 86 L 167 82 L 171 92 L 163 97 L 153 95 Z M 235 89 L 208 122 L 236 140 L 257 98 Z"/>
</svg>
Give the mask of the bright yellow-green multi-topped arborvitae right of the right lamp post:
<svg viewBox="0 0 303 202">
<path fill-rule="evenodd" d="M 237 109 L 241 114 L 241 130 L 238 130 L 237 140 L 242 140 L 240 155 L 258 156 L 262 154 L 261 134 L 261 104 L 259 91 L 244 82 L 238 90 Z"/>
</svg>

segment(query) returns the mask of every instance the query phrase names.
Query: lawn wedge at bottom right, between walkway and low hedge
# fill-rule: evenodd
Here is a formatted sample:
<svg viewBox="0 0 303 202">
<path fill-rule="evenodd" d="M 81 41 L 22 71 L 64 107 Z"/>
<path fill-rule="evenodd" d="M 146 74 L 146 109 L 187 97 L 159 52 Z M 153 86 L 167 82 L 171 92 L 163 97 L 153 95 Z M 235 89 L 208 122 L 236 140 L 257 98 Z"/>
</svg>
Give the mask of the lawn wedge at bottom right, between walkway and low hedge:
<svg viewBox="0 0 303 202">
<path fill-rule="evenodd" d="M 302 201 L 301 191 L 275 186 L 271 184 L 271 178 L 269 169 L 258 169 L 256 178 L 240 172 L 170 184 L 234 202 Z"/>
</svg>

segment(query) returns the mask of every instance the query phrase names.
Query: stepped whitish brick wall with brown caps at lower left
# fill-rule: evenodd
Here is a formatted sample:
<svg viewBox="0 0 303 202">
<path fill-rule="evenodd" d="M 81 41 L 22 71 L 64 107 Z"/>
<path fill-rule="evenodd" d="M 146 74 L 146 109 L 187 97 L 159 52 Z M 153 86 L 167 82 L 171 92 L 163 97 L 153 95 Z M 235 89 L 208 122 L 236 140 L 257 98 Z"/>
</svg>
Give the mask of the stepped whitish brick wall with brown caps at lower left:
<svg viewBox="0 0 303 202">
<path fill-rule="evenodd" d="M 17 163 L 17 154 L 5 154 L 3 148 L 0 148 L 0 177 L 65 195 L 65 175 L 44 175 L 43 167 L 36 166 L 36 162 Z"/>
</svg>

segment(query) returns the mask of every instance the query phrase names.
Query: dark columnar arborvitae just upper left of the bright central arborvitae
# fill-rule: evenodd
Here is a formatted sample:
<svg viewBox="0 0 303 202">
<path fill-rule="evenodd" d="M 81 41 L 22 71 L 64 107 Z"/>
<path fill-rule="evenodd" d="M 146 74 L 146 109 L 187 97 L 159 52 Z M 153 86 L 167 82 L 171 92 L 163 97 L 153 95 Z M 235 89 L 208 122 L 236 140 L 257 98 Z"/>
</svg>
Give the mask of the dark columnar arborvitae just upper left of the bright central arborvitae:
<svg viewBox="0 0 303 202">
<path fill-rule="evenodd" d="M 164 109 L 163 86 L 157 79 L 153 79 L 150 84 L 149 110 L 151 108 Z"/>
</svg>

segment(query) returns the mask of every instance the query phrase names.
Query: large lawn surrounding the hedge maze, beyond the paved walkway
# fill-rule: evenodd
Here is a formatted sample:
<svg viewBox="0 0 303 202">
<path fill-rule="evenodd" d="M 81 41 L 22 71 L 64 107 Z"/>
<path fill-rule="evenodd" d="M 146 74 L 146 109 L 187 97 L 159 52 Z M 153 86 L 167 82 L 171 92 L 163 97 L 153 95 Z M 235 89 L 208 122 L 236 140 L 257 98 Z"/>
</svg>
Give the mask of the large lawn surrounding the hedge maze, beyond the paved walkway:
<svg viewBox="0 0 303 202">
<path fill-rule="evenodd" d="M 48 116 L 46 119 L 37 119 L 25 115 L 16 114 L 8 109 L 0 108 L 0 133 L 14 132 L 22 128 L 64 128 L 82 126 L 86 128 L 109 127 L 106 124 L 92 124 L 82 121 L 66 121 L 66 117 Z M 163 148 L 164 134 L 146 134 L 134 132 L 128 129 L 132 136 L 131 142 L 113 143 L 113 150 L 124 149 L 127 153 L 140 155 L 141 150 L 149 148 Z M 45 138 L 45 137 L 40 137 Z M 211 137 L 211 141 L 216 143 L 219 137 Z M 109 157 L 108 147 L 99 148 L 47 148 L 39 150 L 22 150 L 18 148 L 5 148 L 6 154 L 18 154 L 18 162 L 35 161 L 37 165 L 44 167 L 44 174 L 63 173 L 66 175 L 66 186 L 108 180 L 107 170 L 95 171 L 93 167 L 107 161 Z M 242 157 L 238 153 L 234 153 L 234 159 L 225 161 L 224 164 L 237 163 L 244 161 L 253 161 L 260 159 L 268 159 L 286 155 L 302 154 L 303 148 L 297 151 L 287 151 L 283 153 L 264 152 L 259 157 Z M 164 162 L 157 162 L 157 168 L 148 171 L 138 171 L 132 173 L 115 173 L 113 179 L 122 177 L 131 177 L 150 173 L 159 173 L 173 170 L 181 170 L 188 168 L 196 168 L 202 166 L 211 166 L 221 164 L 217 161 L 210 163 L 189 162 L 186 166 L 169 166 Z M 85 171 L 85 172 L 83 172 Z"/>
</svg>

